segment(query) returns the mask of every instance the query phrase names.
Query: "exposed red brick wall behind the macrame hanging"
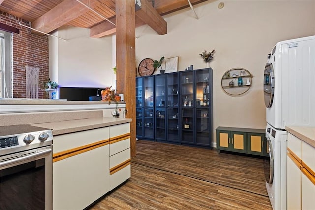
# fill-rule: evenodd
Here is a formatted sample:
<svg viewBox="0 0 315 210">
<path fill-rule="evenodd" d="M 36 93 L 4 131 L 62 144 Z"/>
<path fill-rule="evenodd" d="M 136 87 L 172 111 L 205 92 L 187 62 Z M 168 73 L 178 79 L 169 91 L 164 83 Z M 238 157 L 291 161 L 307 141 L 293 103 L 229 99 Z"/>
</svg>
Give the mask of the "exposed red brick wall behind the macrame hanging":
<svg viewBox="0 0 315 210">
<path fill-rule="evenodd" d="M 25 66 L 39 67 L 38 98 L 47 98 L 43 82 L 48 79 L 48 35 L 35 35 L 31 29 L 20 26 L 19 22 L 32 27 L 32 23 L 5 12 L 0 12 L 1 23 L 20 29 L 13 34 L 13 98 L 26 98 Z"/>
</svg>

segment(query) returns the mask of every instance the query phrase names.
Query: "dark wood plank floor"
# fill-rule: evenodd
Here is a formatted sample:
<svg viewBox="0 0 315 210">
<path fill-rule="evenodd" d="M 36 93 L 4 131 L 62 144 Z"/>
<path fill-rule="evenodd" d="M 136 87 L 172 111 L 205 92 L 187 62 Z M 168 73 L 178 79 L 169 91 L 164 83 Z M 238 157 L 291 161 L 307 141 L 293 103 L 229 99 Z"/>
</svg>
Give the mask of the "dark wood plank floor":
<svg viewBox="0 0 315 210">
<path fill-rule="evenodd" d="M 139 140 L 131 178 L 91 210 L 272 210 L 263 160 Z"/>
</svg>

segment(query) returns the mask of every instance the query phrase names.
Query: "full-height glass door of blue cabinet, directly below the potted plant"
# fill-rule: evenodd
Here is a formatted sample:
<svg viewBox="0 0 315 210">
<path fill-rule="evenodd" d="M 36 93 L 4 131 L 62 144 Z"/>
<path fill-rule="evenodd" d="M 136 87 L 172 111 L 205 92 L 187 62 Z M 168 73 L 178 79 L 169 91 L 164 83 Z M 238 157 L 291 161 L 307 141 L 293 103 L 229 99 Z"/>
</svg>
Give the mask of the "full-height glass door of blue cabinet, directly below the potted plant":
<svg viewBox="0 0 315 210">
<path fill-rule="evenodd" d="M 156 140 L 166 140 L 166 76 L 155 76 Z"/>
</svg>

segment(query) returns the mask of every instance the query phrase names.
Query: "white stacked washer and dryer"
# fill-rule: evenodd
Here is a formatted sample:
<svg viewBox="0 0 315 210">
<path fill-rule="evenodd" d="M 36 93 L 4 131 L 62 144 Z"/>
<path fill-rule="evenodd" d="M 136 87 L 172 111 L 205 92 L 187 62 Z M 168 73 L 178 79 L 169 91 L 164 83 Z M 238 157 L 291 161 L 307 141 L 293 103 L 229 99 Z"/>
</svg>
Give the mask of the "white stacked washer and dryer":
<svg viewBox="0 0 315 210">
<path fill-rule="evenodd" d="M 274 210 L 286 210 L 285 126 L 315 126 L 315 36 L 276 44 L 264 70 L 266 188 Z"/>
</svg>

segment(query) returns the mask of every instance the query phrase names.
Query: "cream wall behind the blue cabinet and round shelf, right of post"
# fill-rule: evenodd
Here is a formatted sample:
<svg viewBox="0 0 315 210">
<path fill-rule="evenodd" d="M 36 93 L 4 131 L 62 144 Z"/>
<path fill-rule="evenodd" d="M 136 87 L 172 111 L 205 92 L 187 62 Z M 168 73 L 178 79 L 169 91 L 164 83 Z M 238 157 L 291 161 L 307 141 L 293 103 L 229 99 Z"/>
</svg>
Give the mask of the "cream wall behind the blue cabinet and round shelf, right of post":
<svg viewBox="0 0 315 210">
<path fill-rule="evenodd" d="M 218 4 L 224 2 L 223 9 Z M 199 56 L 216 50 L 213 68 L 214 131 L 218 126 L 264 129 L 263 70 L 276 42 L 315 35 L 315 1 L 216 1 L 164 16 L 167 34 L 136 29 L 136 64 L 144 58 L 179 56 L 178 70 L 205 68 Z M 162 65 L 165 67 L 165 64 Z M 253 74 L 252 87 L 238 97 L 221 88 L 223 74 L 241 67 Z M 156 70 L 155 74 L 159 74 Z M 214 135 L 215 136 L 215 135 Z"/>
</svg>

